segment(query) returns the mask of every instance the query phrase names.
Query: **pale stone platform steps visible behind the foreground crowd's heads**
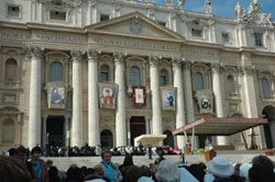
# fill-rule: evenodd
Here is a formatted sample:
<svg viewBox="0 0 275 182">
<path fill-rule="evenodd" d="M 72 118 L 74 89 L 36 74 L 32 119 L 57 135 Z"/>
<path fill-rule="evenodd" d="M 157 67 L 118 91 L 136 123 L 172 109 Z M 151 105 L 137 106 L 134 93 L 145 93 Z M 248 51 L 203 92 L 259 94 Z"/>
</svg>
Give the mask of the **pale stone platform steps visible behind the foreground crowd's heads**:
<svg viewBox="0 0 275 182">
<path fill-rule="evenodd" d="M 242 163 L 242 162 L 251 162 L 252 158 L 258 155 L 264 155 L 263 150 L 220 150 L 217 151 L 218 155 L 224 156 L 229 158 L 233 163 Z M 157 156 L 153 156 L 153 160 L 148 160 L 147 156 L 134 156 L 133 161 L 136 166 L 148 166 L 153 163 Z M 180 156 L 165 156 L 166 159 L 179 161 Z M 273 161 L 275 161 L 275 157 L 270 157 Z M 59 170 L 66 171 L 72 163 L 76 163 L 78 167 L 86 166 L 88 168 L 94 168 L 101 161 L 100 157 L 58 157 L 58 158 L 43 158 L 45 161 L 51 159 L 54 161 L 54 166 L 56 166 Z M 112 161 L 116 163 L 123 163 L 124 156 L 112 157 Z M 187 155 L 186 156 L 187 164 L 198 163 L 205 161 L 205 156 L 202 155 Z"/>
</svg>

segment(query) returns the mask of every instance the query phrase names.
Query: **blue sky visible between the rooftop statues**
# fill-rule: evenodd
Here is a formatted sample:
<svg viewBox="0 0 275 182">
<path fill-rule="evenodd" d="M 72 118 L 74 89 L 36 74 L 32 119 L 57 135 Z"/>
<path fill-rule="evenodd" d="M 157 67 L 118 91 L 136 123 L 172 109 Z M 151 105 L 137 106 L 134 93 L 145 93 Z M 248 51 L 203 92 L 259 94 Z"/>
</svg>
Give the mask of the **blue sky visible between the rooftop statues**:
<svg viewBox="0 0 275 182">
<path fill-rule="evenodd" d="M 177 0 L 174 0 L 177 1 Z M 253 0 L 212 0 L 212 12 L 215 15 L 234 18 L 235 4 L 240 1 L 242 7 L 248 12 L 248 8 Z M 155 0 L 157 3 L 165 3 L 165 0 Z M 263 4 L 262 10 L 264 12 L 272 13 L 275 18 L 275 0 L 258 0 Z M 205 0 L 185 0 L 185 9 L 193 11 L 205 11 Z"/>
</svg>

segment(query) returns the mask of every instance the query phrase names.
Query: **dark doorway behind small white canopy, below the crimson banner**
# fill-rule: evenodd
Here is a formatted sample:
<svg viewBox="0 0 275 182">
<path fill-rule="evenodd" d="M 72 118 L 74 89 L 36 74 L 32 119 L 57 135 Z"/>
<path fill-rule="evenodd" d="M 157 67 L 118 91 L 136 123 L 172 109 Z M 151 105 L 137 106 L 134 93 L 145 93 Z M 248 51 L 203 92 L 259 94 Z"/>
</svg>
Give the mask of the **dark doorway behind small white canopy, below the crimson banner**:
<svg viewBox="0 0 275 182">
<path fill-rule="evenodd" d="M 144 116 L 132 116 L 130 120 L 130 130 L 131 146 L 134 146 L 134 138 L 146 133 Z"/>
</svg>

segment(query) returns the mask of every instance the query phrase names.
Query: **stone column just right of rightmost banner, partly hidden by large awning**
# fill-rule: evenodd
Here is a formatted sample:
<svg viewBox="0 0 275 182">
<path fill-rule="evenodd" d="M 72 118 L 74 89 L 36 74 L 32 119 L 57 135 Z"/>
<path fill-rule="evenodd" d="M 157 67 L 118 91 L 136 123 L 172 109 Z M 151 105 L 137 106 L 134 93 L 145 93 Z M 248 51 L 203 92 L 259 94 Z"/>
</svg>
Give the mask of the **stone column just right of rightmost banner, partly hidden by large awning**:
<svg viewBox="0 0 275 182">
<path fill-rule="evenodd" d="M 222 88 L 220 82 L 220 69 L 221 66 L 219 64 L 212 65 L 212 87 L 213 87 L 213 95 L 215 95 L 215 103 L 216 103 L 216 116 L 217 117 L 224 117 L 224 105 L 222 99 Z M 226 136 L 218 136 L 217 137 L 218 145 L 230 145 L 229 137 Z"/>
</svg>

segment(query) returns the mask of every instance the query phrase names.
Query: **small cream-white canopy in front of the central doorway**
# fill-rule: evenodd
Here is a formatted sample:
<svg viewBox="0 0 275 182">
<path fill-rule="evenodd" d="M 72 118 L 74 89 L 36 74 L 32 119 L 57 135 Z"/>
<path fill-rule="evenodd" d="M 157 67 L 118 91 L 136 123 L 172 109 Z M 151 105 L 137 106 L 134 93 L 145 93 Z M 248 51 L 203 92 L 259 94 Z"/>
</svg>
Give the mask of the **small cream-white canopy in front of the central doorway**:
<svg viewBox="0 0 275 182">
<path fill-rule="evenodd" d="M 141 135 L 139 137 L 134 138 L 134 144 L 138 146 L 140 143 L 142 145 L 152 145 L 152 146 L 158 146 L 158 143 L 165 139 L 167 135 Z"/>
</svg>

